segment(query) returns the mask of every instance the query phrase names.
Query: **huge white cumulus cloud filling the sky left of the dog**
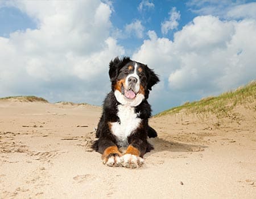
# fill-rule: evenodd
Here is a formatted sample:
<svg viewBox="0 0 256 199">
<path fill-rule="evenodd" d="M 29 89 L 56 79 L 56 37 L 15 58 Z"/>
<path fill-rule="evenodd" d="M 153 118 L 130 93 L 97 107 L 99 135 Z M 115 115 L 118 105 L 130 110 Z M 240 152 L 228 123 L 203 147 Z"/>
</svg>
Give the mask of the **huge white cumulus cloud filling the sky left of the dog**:
<svg viewBox="0 0 256 199">
<path fill-rule="evenodd" d="M 68 100 L 73 95 L 99 103 L 93 90 L 108 84 L 108 76 L 102 76 L 108 74 L 108 62 L 125 53 L 110 36 L 108 3 L 10 1 L 1 6 L 15 6 L 38 24 L 35 30 L 0 37 L 1 96 L 40 93 L 49 100 Z"/>
</svg>

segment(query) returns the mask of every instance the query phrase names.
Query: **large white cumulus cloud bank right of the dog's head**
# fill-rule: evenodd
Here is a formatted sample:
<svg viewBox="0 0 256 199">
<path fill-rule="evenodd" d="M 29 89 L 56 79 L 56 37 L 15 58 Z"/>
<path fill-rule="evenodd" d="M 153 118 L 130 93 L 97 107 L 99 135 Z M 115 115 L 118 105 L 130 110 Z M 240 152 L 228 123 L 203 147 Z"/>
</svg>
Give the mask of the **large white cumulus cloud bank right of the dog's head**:
<svg viewBox="0 0 256 199">
<path fill-rule="evenodd" d="M 173 42 L 154 31 L 148 36 L 133 58 L 155 68 L 170 99 L 180 92 L 180 99 L 219 94 L 256 77 L 255 19 L 198 16 L 175 33 Z M 159 93 L 158 102 L 163 100 Z"/>
</svg>

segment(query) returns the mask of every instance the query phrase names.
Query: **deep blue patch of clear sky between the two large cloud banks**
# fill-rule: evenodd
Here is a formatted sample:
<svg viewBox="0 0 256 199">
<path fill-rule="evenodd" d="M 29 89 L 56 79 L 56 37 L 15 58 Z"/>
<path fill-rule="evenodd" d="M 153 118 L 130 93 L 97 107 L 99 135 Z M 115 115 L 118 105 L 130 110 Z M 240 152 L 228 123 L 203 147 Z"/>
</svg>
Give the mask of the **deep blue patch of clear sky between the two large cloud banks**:
<svg viewBox="0 0 256 199">
<path fill-rule="evenodd" d="M 140 9 L 140 4 L 143 2 L 152 3 L 154 6 L 147 6 L 142 4 L 142 9 Z M 147 38 L 147 31 L 154 30 L 159 36 L 167 36 L 173 39 L 174 32 L 180 30 L 185 24 L 191 22 L 191 20 L 196 16 L 189 10 L 187 3 L 185 1 L 121 1 L 116 0 L 112 3 L 113 14 L 111 16 L 111 21 L 115 27 L 119 30 L 125 28 L 127 24 L 134 22 L 135 20 L 140 20 L 143 30 L 143 37 L 138 38 L 135 35 L 131 35 L 129 38 L 119 39 L 119 43 L 124 45 L 126 49 L 132 54 L 135 48 L 138 48 L 143 43 L 143 40 Z M 168 32 L 167 35 L 163 35 L 161 32 L 161 22 L 169 18 L 168 13 L 175 7 L 177 11 L 182 13 L 182 18 L 179 20 L 178 26 L 174 31 Z"/>
</svg>

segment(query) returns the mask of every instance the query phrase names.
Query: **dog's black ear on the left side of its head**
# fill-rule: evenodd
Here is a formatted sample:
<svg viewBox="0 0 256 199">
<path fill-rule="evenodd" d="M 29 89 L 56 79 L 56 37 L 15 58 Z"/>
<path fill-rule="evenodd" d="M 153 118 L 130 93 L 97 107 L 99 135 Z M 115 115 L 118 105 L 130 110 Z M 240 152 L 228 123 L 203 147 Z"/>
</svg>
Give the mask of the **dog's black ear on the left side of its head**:
<svg viewBox="0 0 256 199">
<path fill-rule="evenodd" d="M 115 57 L 114 60 L 111 60 L 109 63 L 109 77 L 111 81 L 114 81 L 118 76 L 119 70 L 123 67 L 123 65 L 129 63 L 130 57 L 123 57 L 123 59 L 119 59 L 119 57 Z"/>
</svg>

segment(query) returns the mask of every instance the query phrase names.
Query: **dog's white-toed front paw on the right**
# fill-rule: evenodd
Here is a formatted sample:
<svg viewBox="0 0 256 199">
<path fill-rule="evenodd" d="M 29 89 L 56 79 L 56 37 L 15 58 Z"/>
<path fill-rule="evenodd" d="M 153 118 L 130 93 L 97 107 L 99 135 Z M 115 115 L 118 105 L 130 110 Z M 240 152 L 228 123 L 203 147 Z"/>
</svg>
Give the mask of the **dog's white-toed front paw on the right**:
<svg viewBox="0 0 256 199">
<path fill-rule="evenodd" d="M 128 168 L 138 168 L 144 163 L 141 157 L 132 154 L 125 154 L 120 159 L 122 166 Z"/>
</svg>

